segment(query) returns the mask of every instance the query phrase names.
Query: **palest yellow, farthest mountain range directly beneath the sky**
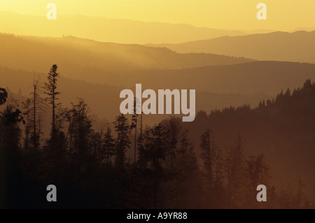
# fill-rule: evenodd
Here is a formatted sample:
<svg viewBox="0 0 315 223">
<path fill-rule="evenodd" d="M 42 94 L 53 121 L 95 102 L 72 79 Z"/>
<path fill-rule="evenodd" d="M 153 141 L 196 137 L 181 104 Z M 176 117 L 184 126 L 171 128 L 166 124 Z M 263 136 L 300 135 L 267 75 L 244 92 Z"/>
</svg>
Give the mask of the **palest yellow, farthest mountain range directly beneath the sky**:
<svg viewBox="0 0 315 223">
<path fill-rule="evenodd" d="M 140 22 L 135 20 L 88 17 L 84 15 L 58 15 L 47 20 L 45 15 L 21 15 L 0 11 L 0 32 L 27 36 L 78 36 L 114 43 L 183 43 L 219 36 L 239 36 L 266 33 L 269 30 L 222 30 L 194 27 L 190 24 Z M 77 25 L 73 25 L 77 24 Z"/>
</svg>

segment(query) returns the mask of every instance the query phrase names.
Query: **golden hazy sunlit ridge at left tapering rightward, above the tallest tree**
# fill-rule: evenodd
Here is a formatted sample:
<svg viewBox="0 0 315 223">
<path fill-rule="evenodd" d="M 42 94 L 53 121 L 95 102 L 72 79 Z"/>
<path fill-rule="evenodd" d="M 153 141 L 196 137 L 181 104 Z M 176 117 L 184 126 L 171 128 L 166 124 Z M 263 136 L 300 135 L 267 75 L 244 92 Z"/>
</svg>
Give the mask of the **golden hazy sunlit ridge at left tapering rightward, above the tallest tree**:
<svg viewBox="0 0 315 223">
<path fill-rule="evenodd" d="M 214 54 L 179 54 L 167 48 L 102 43 L 82 38 L 32 37 L 0 34 L 0 66 L 47 73 L 52 64 L 68 77 L 109 82 L 121 71 L 187 69 L 197 66 L 251 62 L 251 59 Z"/>
</svg>

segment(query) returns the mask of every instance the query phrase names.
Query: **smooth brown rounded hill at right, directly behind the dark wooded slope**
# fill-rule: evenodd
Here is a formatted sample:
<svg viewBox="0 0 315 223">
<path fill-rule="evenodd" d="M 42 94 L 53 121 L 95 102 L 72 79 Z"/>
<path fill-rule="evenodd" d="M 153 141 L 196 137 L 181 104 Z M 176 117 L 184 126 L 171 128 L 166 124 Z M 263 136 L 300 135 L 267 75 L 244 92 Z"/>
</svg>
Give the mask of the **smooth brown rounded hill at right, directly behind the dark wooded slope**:
<svg viewBox="0 0 315 223">
<path fill-rule="evenodd" d="M 134 87 L 160 89 L 197 89 L 216 94 L 267 94 L 274 96 L 283 89 L 297 88 L 307 80 L 315 80 L 315 64 L 258 61 L 192 69 L 137 71 L 123 75 L 120 83 Z M 167 81 L 165 81 L 167 80 Z"/>
</svg>

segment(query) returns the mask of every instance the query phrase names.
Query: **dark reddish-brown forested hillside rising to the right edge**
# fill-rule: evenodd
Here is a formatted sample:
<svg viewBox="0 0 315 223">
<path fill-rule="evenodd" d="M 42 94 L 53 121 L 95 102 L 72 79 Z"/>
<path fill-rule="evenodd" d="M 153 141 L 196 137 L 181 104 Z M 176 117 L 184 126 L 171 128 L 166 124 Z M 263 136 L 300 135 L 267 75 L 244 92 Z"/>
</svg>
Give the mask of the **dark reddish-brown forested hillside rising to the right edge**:
<svg viewBox="0 0 315 223">
<path fill-rule="evenodd" d="M 265 153 L 272 166 L 272 182 L 294 184 L 304 179 L 310 191 L 315 186 L 315 84 L 287 89 L 275 99 L 249 106 L 197 113 L 188 129 L 198 144 L 200 135 L 211 129 L 218 148 L 229 148 L 234 138 L 244 137 L 246 154 Z M 292 186 L 292 185 L 291 185 Z M 296 185 L 295 185 L 296 186 Z M 313 190 L 314 192 L 314 190 Z"/>
</svg>

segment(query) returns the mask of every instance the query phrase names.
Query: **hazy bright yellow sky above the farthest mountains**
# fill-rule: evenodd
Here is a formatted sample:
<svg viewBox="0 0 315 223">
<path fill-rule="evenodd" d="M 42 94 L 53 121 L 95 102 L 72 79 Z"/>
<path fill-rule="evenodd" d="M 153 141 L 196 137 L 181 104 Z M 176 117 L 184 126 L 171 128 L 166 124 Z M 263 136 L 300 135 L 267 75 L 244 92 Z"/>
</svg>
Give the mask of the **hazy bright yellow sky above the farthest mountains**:
<svg viewBox="0 0 315 223">
<path fill-rule="evenodd" d="M 0 10 L 27 15 L 81 14 L 141 21 L 187 23 L 217 29 L 315 27 L 315 0 L 0 0 Z M 257 20 L 256 6 L 267 4 L 267 20 Z"/>
</svg>

